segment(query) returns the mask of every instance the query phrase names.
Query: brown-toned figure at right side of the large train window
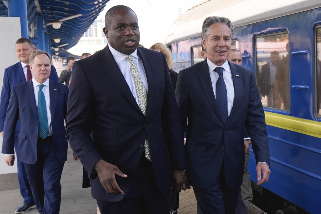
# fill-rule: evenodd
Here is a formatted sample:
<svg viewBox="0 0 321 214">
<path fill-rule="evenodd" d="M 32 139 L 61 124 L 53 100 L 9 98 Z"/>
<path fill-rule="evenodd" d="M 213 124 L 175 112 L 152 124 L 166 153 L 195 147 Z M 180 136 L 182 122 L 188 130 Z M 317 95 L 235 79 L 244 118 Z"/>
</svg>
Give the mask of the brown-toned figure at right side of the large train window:
<svg viewBox="0 0 321 214">
<path fill-rule="evenodd" d="M 289 82 L 289 43 L 285 46 L 288 54 L 276 66 L 273 106 L 284 110 L 290 109 L 290 82 Z M 279 97 L 280 95 L 280 97 Z"/>
</svg>

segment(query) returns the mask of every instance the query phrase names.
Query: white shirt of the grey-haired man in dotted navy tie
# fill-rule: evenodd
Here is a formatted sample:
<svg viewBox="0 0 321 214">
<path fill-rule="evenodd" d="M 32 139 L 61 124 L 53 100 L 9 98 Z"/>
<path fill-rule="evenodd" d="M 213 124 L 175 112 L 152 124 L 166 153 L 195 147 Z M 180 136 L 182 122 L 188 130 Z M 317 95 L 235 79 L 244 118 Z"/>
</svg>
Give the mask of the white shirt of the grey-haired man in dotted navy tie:
<svg viewBox="0 0 321 214">
<path fill-rule="evenodd" d="M 216 97 L 216 82 L 220 75 L 216 73 L 214 69 L 220 66 L 217 66 L 216 64 L 212 63 L 208 58 L 206 58 L 206 61 L 207 61 L 208 70 L 211 76 L 214 95 Z M 221 67 L 223 68 L 223 78 L 224 78 L 226 91 L 227 91 L 227 111 L 228 111 L 228 115 L 230 116 L 231 109 L 234 102 L 234 86 L 233 86 L 233 80 L 232 80 L 232 73 L 230 70 L 230 65 L 227 60 L 224 64 L 222 64 Z"/>
</svg>

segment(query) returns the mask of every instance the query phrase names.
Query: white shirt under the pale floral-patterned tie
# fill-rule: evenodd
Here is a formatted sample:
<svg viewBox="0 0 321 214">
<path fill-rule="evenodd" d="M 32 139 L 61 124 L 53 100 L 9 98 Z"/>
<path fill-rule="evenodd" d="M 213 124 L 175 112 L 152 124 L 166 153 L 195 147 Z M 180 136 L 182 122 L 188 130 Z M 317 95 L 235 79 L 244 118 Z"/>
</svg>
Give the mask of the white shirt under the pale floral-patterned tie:
<svg viewBox="0 0 321 214">
<path fill-rule="evenodd" d="M 132 72 L 130 70 L 129 60 L 126 59 L 127 55 L 118 52 L 117 50 L 112 48 L 109 45 L 109 43 L 108 43 L 108 47 L 109 47 L 110 52 L 113 55 L 117 65 L 120 69 L 120 72 L 123 74 L 128 86 L 129 86 L 129 89 L 131 90 L 131 92 L 137 102 L 137 105 L 139 106 L 138 96 L 137 96 L 135 83 L 134 83 L 134 78 L 133 78 Z M 137 65 L 138 71 L 142 77 L 144 88 L 148 92 L 147 77 L 146 77 L 145 69 L 144 69 L 142 60 L 137 55 L 137 49 L 133 53 L 131 53 L 130 55 L 133 56 L 133 60 L 134 60 L 135 64 Z"/>
</svg>

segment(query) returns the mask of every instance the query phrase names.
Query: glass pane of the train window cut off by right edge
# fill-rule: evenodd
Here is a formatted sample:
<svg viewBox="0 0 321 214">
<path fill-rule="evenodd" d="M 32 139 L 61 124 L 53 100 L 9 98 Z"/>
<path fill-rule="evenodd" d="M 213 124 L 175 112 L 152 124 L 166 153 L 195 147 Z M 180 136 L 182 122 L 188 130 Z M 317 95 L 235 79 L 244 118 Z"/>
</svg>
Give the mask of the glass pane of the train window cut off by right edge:
<svg viewBox="0 0 321 214">
<path fill-rule="evenodd" d="M 316 56 L 317 56 L 317 63 L 316 63 L 316 98 L 317 98 L 317 106 L 316 106 L 316 113 L 317 115 L 321 116 L 321 26 L 316 28 Z"/>
</svg>

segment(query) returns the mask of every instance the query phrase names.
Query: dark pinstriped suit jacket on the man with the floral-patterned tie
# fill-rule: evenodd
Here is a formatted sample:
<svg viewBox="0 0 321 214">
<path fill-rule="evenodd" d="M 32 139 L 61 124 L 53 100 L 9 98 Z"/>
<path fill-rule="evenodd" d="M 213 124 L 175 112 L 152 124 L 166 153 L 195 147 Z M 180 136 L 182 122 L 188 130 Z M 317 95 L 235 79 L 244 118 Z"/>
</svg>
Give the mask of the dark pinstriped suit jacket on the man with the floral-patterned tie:
<svg viewBox="0 0 321 214">
<path fill-rule="evenodd" d="M 146 116 L 129 89 L 108 45 L 74 62 L 67 113 L 67 139 L 91 178 L 93 198 L 120 201 L 132 183 L 146 135 L 153 173 L 160 192 L 170 189 L 171 169 L 185 169 L 183 133 L 166 58 L 162 53 L 137 48 L 148 82 Z M 81 105 L 80 105 L 81 104 Z M 107 194 L 94 166 L 100 159 L 128 175 L 116 175 L 124 195 Z"/>
</svg>

